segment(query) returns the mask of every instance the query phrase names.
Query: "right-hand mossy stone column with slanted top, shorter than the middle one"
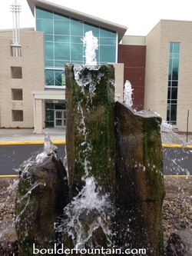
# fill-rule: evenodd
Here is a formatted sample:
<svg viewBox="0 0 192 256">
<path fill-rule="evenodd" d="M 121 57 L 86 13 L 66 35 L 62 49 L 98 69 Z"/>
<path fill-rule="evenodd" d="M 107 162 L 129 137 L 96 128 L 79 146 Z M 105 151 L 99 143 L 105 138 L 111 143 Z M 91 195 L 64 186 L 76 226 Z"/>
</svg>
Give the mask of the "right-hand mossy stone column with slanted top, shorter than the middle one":
<svg viewBox="0 0 192 256">
<path fill-rule="evenodd" d="M 164 255 L 161 118 L 116 102 L 117 244 Z M 135 250 L 134 250 L 135 252 Z"/>
</svg>

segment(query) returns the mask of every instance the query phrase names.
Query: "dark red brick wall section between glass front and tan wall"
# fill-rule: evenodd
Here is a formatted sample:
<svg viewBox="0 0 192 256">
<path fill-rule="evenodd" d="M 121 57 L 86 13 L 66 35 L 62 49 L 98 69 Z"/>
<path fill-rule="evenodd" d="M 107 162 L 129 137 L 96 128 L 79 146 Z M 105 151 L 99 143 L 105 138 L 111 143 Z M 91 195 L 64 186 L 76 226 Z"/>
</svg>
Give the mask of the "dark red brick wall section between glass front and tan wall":
<svg viewBox="0 0 192 256">
<path fill-rule="evenodd" d="M 124 83 L 131 81 L 133 108 L 144 109 L 145 45 L 118 45 L 118 63 L 124 63 Z"/>
</svg>

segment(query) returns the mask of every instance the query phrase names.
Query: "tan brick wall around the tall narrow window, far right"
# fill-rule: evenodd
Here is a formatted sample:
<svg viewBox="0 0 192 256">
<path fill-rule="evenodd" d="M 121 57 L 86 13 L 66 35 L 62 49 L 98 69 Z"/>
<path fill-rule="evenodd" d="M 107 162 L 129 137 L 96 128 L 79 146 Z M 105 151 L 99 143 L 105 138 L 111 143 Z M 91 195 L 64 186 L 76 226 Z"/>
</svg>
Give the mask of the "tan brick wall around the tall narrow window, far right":
<svg viewBox="0 0 192 256">
<path fill-rule="evenodd" d="M 166 120 L 169 44 L 180 42 L 179 83 L 177 95 L 177 125 L 186 131 L 187 110 L 192 131 L 192 22 L 162 20 L 147 35 L 147 58 L 144 108 L 152 108 Z"/>
</svg>

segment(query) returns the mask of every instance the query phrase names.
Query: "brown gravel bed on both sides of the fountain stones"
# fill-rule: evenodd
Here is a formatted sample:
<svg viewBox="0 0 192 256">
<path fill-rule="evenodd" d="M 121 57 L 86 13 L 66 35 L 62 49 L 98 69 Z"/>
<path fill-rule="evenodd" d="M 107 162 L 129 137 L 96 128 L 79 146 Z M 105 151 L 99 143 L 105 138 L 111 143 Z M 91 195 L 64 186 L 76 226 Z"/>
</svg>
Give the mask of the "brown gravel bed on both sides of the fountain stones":
<svg viewBox="0 0 192 256">
<path fill-rule="evenodd" d="M 11 225 L 15 218 L 16 186 L 13 186 L 14 181 L 14 178 L 0 179 L 0 240 L 5 225 Z M 192 177 L 165 176 L 164 185 L 166 196 L 163 207 L 163 228 L 166 251 L 170 234 L 192 228 Z"/>
</svg>

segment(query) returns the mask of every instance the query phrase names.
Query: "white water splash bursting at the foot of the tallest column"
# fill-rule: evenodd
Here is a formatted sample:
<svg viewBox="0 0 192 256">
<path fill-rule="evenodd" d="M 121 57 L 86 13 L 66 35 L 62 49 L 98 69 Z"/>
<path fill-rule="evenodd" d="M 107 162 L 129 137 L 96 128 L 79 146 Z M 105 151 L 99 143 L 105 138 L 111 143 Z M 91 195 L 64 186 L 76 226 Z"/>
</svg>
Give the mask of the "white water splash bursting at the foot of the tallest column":
<svg viewBox="0 0 192 256">
<path fill-rule="evenodd" d="M 64 209 L 66 219 L 62 221 L 60 228 L 71 237 L 74 246 L 81 244 L 84 248 L 88 243 L 89 247 L 92 247 L 91 238 L 98 228 L 102 229 L 108 244 L 111 244 L 109 217 L 105 214 L 106 209 L 111 211 L 111 204 L 108 194 L 101 195 L 100 191 L 101 188 L 97 188 L 94 177 L 86 178 L 84 188 Z"/>
</svg>

